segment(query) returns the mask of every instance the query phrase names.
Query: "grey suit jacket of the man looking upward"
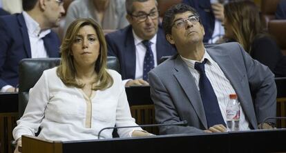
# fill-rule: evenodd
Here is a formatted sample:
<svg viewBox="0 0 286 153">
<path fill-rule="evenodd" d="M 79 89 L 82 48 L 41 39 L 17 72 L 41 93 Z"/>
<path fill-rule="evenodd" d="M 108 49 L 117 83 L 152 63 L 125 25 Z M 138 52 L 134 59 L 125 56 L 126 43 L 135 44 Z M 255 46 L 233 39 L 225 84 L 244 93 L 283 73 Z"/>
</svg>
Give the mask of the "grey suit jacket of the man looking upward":
<svg viewBox="0 0 286 153">
<path fill-rule="evenodd" d="M 267 66 L 251 59 L 238 43 L 207 45 L 206 50 L 236 91 L 249 128 L 257 129 L 265 118 L 276 116 L 276 83 Z M 180 56 L 151 70 L 149 83 L 157 123 L 188 122 L 187 127 L 162 126 L 160 133 L 200 133 L 207 129 L 200 91 Z"/>
</svg>

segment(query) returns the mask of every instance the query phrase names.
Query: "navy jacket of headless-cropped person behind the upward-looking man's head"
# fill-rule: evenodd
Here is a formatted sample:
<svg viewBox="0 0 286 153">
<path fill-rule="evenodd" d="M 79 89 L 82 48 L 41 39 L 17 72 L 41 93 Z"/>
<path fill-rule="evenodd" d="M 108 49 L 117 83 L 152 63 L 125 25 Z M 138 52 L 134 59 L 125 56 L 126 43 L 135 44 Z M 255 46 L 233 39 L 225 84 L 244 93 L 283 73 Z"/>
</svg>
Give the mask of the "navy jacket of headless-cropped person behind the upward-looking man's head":
<svg viewBox="0 0 286 153">
<path fill-rule="evenodd" d="M 183 3 L 195 8 L 200 14 L 202 25 L 204 26 L 204 43 L 207 43 L 213 35 L 213 29 L 215 24 L 215 17 L 211 9 L 210 0 L 184 0 Z"/>
</svg>

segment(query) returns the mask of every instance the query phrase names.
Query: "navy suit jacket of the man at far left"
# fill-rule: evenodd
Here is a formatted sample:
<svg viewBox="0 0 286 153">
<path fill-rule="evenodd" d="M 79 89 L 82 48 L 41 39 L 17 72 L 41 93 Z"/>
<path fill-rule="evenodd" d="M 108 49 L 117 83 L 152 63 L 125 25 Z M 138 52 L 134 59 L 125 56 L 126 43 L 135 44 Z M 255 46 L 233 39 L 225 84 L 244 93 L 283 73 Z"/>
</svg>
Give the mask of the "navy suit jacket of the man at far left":
<svg viewBox="0 0 286 153">
<path fill-rule="evenodd" d="M 5 85 L 18 84 L 18 63 L 21 59 L 31 58 L 28 29 L 23 14 L 0 17 L 0 89 Z M 59 57 L 60 41 L 55 32 L 44 39 L 49 57 Z"/>
</svg>

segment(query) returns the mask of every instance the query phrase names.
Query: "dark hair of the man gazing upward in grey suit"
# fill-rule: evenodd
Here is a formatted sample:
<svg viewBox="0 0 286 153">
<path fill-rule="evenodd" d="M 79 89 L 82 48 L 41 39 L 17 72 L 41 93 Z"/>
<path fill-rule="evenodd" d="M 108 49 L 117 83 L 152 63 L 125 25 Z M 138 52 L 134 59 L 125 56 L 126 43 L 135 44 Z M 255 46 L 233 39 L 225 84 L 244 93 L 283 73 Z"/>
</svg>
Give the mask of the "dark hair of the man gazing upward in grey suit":
<svg viewBox="0 0 286 153">
<path fill-rule="evenodd" d="M 166 10 L 162 21 L 162 26 L 164 28 L 165 34 L 171 34 L 171 29 L 173 25 L 173 20 L 175 19 L 175 14 L 181 14 L 188 11 L 192 12 L 193 15 L 200 16 L 194 8 L 184 3 L 179 3 Z"/>
</svg>

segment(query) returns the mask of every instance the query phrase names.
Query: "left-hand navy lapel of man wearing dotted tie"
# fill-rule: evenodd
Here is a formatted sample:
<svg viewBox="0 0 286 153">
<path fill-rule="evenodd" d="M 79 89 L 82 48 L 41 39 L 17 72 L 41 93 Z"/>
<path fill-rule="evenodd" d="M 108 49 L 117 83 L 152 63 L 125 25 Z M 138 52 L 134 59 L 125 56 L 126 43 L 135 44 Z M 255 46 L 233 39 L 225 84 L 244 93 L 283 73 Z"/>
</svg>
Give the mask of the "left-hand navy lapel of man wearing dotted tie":
<svg viewBox="0 0 286 153">
<path fill-rule="evenodd" d="M 124 50 L 124 65 L 126 68 L 124 70 L 126 73 L 126 79 L 135 79 L 135 69 L 136 69 L 136 48 L 134 43 L 134 37 L 131 26 L 129 26 Z"/>
</svg>

